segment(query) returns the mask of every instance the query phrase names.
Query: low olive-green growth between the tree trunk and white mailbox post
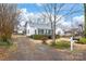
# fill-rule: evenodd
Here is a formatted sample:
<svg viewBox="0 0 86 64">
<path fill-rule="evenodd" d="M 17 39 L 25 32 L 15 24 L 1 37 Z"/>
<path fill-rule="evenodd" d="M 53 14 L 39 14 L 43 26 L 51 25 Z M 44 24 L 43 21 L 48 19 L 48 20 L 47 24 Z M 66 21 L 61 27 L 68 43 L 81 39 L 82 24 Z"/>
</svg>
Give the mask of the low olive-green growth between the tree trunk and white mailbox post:
<svg viewBox="0 0 86 64">
<path fill-rule="evenodd" d="M 51 46 L 57 48 L 57 49 L 66 49 L 66 48 L 70 48 L 70 42 L 69 41 L 58 41 Z"/>
</svg>

